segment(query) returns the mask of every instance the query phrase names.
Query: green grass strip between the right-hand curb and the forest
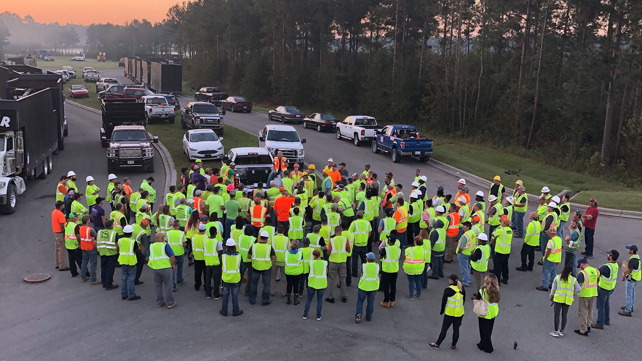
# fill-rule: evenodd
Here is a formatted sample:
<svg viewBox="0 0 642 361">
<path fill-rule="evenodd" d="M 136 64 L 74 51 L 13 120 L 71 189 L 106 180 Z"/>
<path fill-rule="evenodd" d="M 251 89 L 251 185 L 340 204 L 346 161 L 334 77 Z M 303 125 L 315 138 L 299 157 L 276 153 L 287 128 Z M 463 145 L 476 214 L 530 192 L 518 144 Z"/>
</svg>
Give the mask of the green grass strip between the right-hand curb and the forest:
<svg viewBox="0 0 642 361">
<path fill-rule="evenodd" d="M 459 139 L 435 139 L 433 157 L 484 179 L 490 180 L 500 175 L 502 183 L 510 188 L 517 179 L 521 179 L 526 192 L 535 195 L 539 195 L 543 186 L 548 186 L 556 194 L 569 189 L 582 192 L 571 200 L 574 203 L 588 204 L 591 197 L 596 197 L 600 207 L 642 211 L 641 189 L 626 188 L 605 179 L 569 172 L 563 164 L 553 167 L 535 159 L 509 154 L 501 148 L 471 144 Z M 519 176 L 505 173 L 517 170 Z"/>
</svg>

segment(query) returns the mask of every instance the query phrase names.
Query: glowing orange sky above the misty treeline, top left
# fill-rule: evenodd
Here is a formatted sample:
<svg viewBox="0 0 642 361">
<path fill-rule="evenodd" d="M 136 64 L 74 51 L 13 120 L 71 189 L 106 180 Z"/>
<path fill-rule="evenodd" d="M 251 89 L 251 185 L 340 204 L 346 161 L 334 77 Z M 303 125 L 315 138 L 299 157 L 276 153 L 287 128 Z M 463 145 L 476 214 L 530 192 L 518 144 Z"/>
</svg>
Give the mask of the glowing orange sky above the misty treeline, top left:
<svg viewBox="0 0 642 361">
<path fill-rule="evenodd" d="M 87 25 L 123 24 L 132 19 L 161 21 L 170 6 L 182 0 L 2 0 L 0 13 L 31 15 L 37 22 Z"/>
</svg>

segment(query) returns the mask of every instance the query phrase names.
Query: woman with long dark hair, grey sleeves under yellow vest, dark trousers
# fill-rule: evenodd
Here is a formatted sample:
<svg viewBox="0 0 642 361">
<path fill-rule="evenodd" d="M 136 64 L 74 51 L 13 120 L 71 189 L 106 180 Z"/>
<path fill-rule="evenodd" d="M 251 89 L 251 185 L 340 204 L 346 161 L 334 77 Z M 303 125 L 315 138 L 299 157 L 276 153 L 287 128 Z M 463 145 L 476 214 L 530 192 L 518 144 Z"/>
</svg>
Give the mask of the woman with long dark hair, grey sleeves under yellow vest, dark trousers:
<svg viewBox="0 0 642 361">
<path fill-rule="evenodd" d="M 579 294 L 582 287 L 577 279 L 571 275 L 573 267 L 571 265 L 564 266 L 561 274 L 555 276 L 553 285 L 551 286 L 551 301 L 553 301 L 553 312 L 555 313 L 555 330 L 548 333 L 553 337 L 564 336 L 564 328 L 566 327 L 566 315 L 568 309 L 575 301 L 575 295 Z M 562 316 L 562 323 L 560 324 L 560 314 Z"/>
</svg>

